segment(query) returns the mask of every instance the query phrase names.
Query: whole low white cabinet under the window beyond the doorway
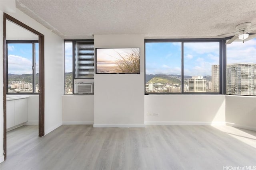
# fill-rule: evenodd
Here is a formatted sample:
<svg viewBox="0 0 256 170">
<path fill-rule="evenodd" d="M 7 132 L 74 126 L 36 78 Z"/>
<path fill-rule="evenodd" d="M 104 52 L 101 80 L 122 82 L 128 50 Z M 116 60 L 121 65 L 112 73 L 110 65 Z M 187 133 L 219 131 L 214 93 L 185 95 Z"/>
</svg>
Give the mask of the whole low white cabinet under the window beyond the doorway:
<svg viewBox="0 0 256 170">
<path fill-rule="evenodd" d="M 6 102 L 6 128 L 28 121 L 28 98 Z"/>
</svg>

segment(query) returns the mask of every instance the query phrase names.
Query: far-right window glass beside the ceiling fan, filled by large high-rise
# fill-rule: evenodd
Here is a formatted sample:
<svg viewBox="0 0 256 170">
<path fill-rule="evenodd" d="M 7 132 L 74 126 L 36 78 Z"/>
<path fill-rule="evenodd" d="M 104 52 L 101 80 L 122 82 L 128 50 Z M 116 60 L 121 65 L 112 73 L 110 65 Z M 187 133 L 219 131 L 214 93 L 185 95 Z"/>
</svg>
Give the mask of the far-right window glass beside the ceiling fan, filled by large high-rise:
<svg viewBox="0 0 256 170">
<path fill-rule="evenodd" d="M 256 95 L 256 39 L 226 46 L 226 94 Z"/>
</svg>

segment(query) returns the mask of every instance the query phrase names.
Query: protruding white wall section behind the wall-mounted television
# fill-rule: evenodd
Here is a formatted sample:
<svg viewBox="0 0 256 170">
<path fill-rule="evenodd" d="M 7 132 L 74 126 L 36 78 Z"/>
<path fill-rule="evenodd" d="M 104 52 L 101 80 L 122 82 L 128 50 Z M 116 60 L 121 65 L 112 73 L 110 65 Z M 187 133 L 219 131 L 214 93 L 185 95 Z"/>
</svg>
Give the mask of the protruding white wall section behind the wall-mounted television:
<svg viewBox="0 0 256 170">
<path fill-rule="evenodd" d="M 95 74 L 94 127 L 144 127 L 144 35 L 94 35 L 95 48 L 140 48 L 140 74 Z"/>
</svg>

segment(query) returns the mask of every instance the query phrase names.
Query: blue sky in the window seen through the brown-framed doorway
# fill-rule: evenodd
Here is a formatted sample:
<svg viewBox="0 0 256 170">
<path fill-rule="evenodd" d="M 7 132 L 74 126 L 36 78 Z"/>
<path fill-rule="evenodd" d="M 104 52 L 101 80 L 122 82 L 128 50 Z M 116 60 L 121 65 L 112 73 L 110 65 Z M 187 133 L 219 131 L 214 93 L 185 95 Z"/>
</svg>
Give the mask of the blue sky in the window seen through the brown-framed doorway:
<svg viewBox="0 0 256 170">
<path fill-rule="evenodd" d="M 32 74 L 32 44 L 8 44 L 8 73 Z M 36 45 L 36 73 L 38 73 L 38 44 Z"/>
</svg>

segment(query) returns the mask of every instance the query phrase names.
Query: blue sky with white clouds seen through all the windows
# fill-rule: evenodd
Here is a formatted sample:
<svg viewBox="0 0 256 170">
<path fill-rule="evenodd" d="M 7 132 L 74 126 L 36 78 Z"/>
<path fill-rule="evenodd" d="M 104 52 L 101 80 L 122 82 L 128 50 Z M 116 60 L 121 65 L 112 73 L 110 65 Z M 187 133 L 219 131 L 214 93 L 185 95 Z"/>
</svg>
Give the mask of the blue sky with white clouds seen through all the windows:
<svg viewBox="0 0 256 170">
<path fill-rule="evenodd" d="M 146 43 L 146 74 L 181 74 L 181 43 Z M 65 70 L 72 72 L 72 43 L 66 43 Z M 38 47 L 36 48 L 38 72 Z M 218 43 L 184 43 L 184 75 L 211 75 L 219 63 Z M 227 63 L 256 63 L 256 39 L 227 45 Z M 8 73 L 32 73 L 32 45 L 8 44 Z"/>
</svg>

